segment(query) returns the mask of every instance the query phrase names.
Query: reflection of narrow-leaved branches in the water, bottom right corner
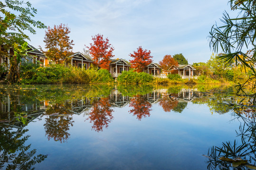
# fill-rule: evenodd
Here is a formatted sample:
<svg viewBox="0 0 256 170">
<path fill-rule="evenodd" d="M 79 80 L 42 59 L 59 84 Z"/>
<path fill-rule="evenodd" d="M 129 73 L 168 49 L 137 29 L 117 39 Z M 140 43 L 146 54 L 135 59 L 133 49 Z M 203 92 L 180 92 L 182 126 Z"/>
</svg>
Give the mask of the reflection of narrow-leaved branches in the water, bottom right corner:
<svg viewBox="0 0 256 170">
<path fill-rule="evenodd" d="M 208 155 L 204 155 L 208 158 L 208 170 L 256 170 L 256 114 L 254 107 L 248 105 L 248 100 L 238 96 L 225 102 L 233 107 L 233 118 L 241 124 L 239 130 L 236 130 L 236 140 L 212 146 Z"/>
</svg>

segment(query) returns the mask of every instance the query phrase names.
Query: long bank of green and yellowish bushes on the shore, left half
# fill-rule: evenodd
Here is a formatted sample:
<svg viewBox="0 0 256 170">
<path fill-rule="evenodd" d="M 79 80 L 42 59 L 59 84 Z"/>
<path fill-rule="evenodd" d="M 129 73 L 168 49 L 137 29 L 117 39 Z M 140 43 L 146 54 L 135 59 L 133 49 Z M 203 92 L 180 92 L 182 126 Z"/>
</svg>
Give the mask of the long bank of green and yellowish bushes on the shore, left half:
<svg viewBox="0 0 256 170">
<path fill-rule="evenodd" d="M 69 67 L 63 65 L 48 65 L 47 67 L 24 67 L 20 83 L 24 84 L 56 84 L 56 83 L 111 83 L 113 78 L 108 70 L 90 68 Z"/>
</svg>

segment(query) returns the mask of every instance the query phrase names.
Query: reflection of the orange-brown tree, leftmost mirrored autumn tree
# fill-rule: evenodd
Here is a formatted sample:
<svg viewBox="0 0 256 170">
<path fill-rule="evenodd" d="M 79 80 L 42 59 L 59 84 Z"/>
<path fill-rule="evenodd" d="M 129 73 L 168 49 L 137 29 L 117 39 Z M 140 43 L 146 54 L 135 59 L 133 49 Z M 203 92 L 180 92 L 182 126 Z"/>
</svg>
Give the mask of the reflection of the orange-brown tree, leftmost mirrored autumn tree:
<svg viewBox="0 0 256 170">
<path fill-rule="evenodd" d="M 68 110 L 68 106 L 64 104 L 55 104 L 46 110 L 47 118 L 44 124 L 45 132 L 48 140 L 53 138 L 60 143 L 67 141 L 70 134 L 69 126 L 73 126 L 72 112 Z"/>
</svg>

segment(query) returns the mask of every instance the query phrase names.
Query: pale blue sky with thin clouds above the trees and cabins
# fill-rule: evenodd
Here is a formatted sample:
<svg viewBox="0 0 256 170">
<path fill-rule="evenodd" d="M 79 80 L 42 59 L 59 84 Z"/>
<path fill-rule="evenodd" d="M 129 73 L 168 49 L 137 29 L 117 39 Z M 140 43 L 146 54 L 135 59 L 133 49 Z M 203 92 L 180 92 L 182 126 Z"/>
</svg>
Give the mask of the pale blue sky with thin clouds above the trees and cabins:
<svg viewBox="0 0 256 170">
<path fill-rule="evenodd" d="M 114 58 L 132 59 L 139 46 L 151 51 L 154 62 L 166 54 L 182 53 L 189 63 L 206 62 L 209 31 L 220 23 L 228 0 L 30 0 L 35 20 L 46 26 L 67 24 L 73 52 L 103 34 L 114 46 Z M 30 35 L 33 46 L 45 46 L 45 30 Z"/>
</svg>

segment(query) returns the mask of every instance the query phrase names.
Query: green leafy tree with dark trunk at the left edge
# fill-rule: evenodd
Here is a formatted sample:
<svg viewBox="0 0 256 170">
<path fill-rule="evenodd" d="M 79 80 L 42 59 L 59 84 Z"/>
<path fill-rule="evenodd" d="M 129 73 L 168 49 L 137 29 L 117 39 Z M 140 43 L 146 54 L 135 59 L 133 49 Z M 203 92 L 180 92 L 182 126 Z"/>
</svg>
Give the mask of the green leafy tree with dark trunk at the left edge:
<svg viewBox="0 0 256 170">
<path fill-rule="evenodd" d="M 15 11 L 17 14 L 13 14 L 12 11 Z M 2 49 L 0 57 L 8 56 L 10 64 L 12 63 L 11 67 L 16 67 L 9 70 L 9 81 L 11 83 L 16 82 L 17 77 L 19 77 L 16 74 L 18 70 L 17 62 L 22 57 L 25 48 L 20 49 L 17 44 L 24 45 L 24 42 L 29 40 L 25 32 L 36 34 L 34 27 L 46 28 L 40 21 L 32 19 L 36 13 L 37 9 L 31 7 L 29 2 L 19 0 L 0 1 L 0 44 Z M 16 55 L 10 55 L 9 49 L 16 51 Z M 22 51 L 22 53 L 19 53 L 19 51 Z"/>
</svg>

